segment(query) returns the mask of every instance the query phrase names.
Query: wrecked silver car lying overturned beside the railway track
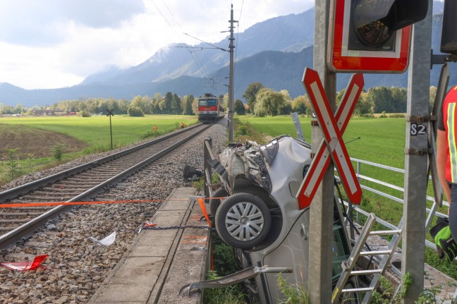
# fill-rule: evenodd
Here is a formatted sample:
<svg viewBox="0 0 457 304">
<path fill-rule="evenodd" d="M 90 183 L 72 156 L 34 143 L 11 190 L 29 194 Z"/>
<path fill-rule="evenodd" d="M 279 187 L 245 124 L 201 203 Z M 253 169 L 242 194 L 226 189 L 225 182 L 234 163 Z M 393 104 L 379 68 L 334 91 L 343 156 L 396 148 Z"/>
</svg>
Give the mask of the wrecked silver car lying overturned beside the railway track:
<svg viewBox="0 0 457 304">
<path fill-rule="evenodd" d="M 298 209 L 295 195 L 311 160 L 310 144 L 288 135 L 267 145 L 233 143 L 207 160 L 221 179 L 219 188 L 208 185 L 216 188 L 209 202 L 214 225 L 222 240 L 233 246 L 240 269 L 286 267 L 292 269 L 282 274 L 288 283 L 307 285 L 310 212 Z M 336 284 L 341 262 L 350 254 L 336 200 L 333 221 L 332 279 Z M 251 303 L 276 303 L 284 298 L 277 274 L 265 272 L 244 282 Z"/>
</svg>

